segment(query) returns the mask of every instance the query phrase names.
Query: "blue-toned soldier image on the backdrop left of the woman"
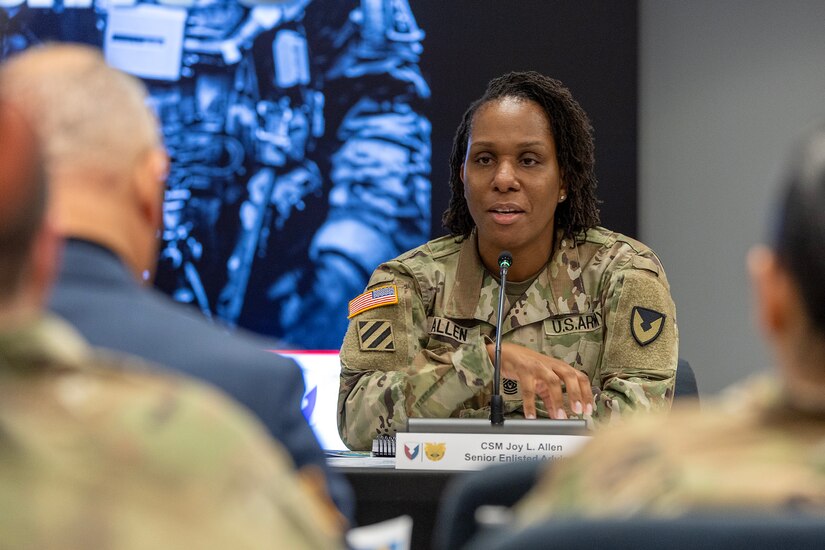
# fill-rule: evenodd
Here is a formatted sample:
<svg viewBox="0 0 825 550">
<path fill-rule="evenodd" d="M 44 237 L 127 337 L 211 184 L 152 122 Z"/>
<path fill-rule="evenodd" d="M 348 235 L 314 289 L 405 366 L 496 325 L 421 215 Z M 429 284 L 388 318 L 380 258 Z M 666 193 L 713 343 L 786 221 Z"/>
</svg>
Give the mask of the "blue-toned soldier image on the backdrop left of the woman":
<svg viewBox="0 0 825 550">
<path fill-rule="evenodd" d="M 407 0 L 21 0 L 0 59 L 101 47 L 171 157 L 156 285 L 230 326 L 337 349 L 347 303 L 430 227 L 430 90 Z"/>
</svg>

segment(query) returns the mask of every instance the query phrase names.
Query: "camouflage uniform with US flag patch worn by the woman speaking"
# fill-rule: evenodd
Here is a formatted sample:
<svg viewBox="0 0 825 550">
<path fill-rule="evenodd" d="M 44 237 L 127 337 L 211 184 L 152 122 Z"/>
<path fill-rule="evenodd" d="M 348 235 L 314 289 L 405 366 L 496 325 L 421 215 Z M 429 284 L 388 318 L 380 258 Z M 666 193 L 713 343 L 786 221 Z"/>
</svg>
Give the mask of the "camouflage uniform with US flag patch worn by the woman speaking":
<svg viewBox="0 0 825 550">
<path fill-rule="evenodd" d="M 585 372 L 602 421 L 628 408 L 669 407 L 678 330 L 658 258 L 603 228 L 575 242 L 559 233 L 554 250 L 529 288 L 511 298 L 502 341 Z M 367 292 L 350 304 L 341 349 L 344 442 L 369 448 L 409 416 L 489 416 L 493 366 L 486 343 L 495 338 L 498 291 L 475 232 L 463 241 L 436 239 L 379 266 Z M 502 395 L 505 414 L 522 415 L 515 381 L 502 381 Z M 547 416 L 540 400 L 537 408 Z"/>
</svg>

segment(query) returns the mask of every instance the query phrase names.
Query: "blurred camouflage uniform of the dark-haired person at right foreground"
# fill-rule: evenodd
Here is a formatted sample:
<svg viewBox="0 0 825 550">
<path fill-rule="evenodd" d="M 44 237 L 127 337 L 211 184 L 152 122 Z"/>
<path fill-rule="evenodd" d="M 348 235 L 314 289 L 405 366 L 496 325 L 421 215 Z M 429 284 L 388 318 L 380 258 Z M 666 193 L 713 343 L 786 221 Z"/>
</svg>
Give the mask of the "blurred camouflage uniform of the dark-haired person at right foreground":
<svg viewBox="0 0 825 550">
<path fill-rule="evenodd" d="M 518 522 L 722 508 L 825 514 L 825 398 L 803 404 L 780 388 L 759 378 L 701 412 L 676 405 L 602 431 L 547 471 L 518 504 Z"/>
</svg>

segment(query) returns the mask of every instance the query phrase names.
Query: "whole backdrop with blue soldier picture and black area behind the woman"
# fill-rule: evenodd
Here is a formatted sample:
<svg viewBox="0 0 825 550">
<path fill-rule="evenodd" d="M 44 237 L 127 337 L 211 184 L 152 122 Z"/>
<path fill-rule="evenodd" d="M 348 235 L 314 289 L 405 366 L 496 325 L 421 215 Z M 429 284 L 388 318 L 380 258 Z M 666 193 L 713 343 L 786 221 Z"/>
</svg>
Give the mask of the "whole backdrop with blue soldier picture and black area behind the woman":
<svg viewBox="0 0 825 550">
<path fill-rule="evenodd" d="M 0 0 L 0 60 L 50 40 L 149 88 L 158 288 L 285 348 L 337 350 L 375 267 L 444 234 L 455 128 L 506 71 L 571 89 L 604 225 L 636 236 L 636 0 Z"/>
</svg>

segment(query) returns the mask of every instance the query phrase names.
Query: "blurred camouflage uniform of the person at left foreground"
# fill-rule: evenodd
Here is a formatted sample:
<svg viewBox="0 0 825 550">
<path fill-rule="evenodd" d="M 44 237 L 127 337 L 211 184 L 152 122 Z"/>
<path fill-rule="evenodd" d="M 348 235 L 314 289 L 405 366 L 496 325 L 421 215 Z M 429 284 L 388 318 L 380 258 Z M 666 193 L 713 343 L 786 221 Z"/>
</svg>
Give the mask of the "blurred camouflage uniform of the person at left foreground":
<svg viewBox="0 0 825 550">
<path fill-rule="evenodd" d="M 340 547 L 263 428 L 143 366 L 54 319 L 0 333 L 0 547 Z"/>
</svg>

